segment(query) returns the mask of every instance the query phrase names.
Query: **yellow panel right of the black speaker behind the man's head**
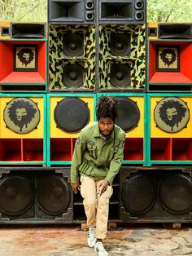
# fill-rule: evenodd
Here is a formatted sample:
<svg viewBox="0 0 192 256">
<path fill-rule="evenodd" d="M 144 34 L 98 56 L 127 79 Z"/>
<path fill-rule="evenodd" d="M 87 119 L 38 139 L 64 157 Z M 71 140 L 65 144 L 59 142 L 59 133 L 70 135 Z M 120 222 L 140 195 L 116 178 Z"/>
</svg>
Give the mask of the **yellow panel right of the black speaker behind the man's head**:
<svg viewBox="0 0 192 256">
<path fill-rule="evenodd" d="M 126 137 L 127 138 L 143 138 L 144 137 L 144 98 L 143 97 L 127 97 L 137 102 L 137 107 L 140 110 L 140 120 L 138 126 L 133 130 L 130 130 Z"/>
</svg>

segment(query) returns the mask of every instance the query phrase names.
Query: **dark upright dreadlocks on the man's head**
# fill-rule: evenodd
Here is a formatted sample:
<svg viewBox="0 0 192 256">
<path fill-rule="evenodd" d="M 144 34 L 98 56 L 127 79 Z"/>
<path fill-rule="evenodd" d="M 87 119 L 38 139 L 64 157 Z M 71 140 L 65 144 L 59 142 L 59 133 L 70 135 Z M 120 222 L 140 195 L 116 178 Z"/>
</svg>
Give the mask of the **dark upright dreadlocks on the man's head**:
<svg viewBox="0 0 192 256">
<path fill-rule="evenodd" d="M 116 120 L 116 105 L 119 104 L 119 100 L 116 97 L 107 97 L 102 95 L 98 99 L 96 116 L 98 121 L 103 117 L 109 117 L 112 121 Z"/>
</svg>

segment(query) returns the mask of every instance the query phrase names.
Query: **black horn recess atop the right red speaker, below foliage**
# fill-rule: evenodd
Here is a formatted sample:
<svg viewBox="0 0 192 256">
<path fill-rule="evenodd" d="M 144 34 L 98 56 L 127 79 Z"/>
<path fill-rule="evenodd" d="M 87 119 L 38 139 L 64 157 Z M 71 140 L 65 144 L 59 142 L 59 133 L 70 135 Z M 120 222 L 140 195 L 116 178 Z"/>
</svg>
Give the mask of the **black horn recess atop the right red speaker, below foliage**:
<svg viewBox="0 0 192 256">
<path fill-rule="evenodd" d="M 159 39 L 192 39 L 192 24 L 159 23 Z"/>
</svg>

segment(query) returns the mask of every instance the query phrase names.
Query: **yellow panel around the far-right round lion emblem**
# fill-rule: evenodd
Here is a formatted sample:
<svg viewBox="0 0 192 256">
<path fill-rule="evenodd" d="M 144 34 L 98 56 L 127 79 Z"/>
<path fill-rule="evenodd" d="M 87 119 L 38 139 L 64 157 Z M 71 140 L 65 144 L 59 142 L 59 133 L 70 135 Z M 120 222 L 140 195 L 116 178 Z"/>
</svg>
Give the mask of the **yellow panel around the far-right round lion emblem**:
<svg viewBox="0 0 192 256">
<path fill-rule="evenodd" d="M 172 97 L 172 96 L 170 96 Z M 168 133 L 164 130 L 160 130 L 154 121 L 154 110 L 157 102 L 165 97 L 151 97 L 151 123 L 150 123 L 150 130 L 151 130 L 151 138 L 192 138 L 192 118 L 190 118 L 187 126 L 182 130 L 178 131 L 177 133 Z M 192 112 L 192 97 L 178 97 L 179 99 L 183 100 L 187 107 Z M 191 117 L 191 115 L 190 115 Z"/>
</svg>

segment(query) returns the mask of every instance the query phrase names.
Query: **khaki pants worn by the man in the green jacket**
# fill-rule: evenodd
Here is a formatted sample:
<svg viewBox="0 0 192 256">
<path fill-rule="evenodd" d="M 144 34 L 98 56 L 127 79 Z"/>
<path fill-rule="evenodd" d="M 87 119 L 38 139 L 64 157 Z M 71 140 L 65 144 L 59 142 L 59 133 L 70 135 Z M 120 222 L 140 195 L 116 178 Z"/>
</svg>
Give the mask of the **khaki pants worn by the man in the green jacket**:
<svg viewBox="0 0 192 256">
<path fill-rule="evenodd" d="M 102 195 L 97 192 L 97 180 L 81 175 L 81 196 L 87 218 L 88 227 L 96 227 L 96 238 L 104 239 L 107 235 L 109 199 L 112 186 L 108 186 Z"/>
</svg>

